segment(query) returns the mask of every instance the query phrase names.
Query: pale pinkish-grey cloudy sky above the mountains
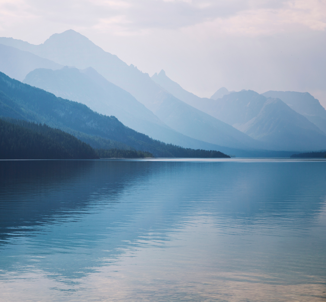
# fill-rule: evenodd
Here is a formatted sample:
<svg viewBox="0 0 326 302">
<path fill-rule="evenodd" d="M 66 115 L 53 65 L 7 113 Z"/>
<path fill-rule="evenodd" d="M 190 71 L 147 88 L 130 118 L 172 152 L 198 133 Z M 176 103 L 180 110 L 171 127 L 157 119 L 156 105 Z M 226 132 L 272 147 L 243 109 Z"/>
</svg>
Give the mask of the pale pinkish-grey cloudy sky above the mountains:
<svg viewBox="0 0 326 302">
<path fill-rule="evenodd" d="M 326 107 L 326 0 L 0 0 L 0 36 L 68 29 L 200 97 L 308 91 Z"/>
</svg>

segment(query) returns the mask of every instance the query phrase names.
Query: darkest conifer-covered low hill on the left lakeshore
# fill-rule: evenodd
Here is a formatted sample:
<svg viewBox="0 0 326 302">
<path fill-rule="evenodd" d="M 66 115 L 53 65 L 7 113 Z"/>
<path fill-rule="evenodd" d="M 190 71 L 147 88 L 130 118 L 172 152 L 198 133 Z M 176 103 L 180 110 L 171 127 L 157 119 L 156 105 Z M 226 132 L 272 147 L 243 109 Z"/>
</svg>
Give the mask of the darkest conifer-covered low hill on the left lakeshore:
<svg viewBox="0 0 326 302">
<path fill-rule="evenodd" d="M 0 159 L 98 158 L 89 144 L 73 135 L 23 120 L 0 119 L 0 145 Z"/>
</svg>

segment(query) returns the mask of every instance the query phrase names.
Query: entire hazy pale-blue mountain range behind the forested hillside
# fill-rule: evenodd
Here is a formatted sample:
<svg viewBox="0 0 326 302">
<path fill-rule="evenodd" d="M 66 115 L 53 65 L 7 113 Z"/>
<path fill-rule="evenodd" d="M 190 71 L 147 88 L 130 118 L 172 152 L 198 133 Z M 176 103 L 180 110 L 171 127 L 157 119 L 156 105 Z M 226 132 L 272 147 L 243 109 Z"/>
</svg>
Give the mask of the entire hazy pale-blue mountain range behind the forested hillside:
<svg viewBox="0 0 326 302">
<path fill-rule="evenodd" d="M 155 139 L 192 148 L 224 148 L 223 152 L 326 147 L 326 111 L 308 93 L 259 95 L 223 87 L 210 99 L 200 98 L 163 70 L 150 77 L 73 30 L 53 34 L 40 45 L 5 37 L 0 43 L 1 71 L 114 115 Z"/>
</svg>

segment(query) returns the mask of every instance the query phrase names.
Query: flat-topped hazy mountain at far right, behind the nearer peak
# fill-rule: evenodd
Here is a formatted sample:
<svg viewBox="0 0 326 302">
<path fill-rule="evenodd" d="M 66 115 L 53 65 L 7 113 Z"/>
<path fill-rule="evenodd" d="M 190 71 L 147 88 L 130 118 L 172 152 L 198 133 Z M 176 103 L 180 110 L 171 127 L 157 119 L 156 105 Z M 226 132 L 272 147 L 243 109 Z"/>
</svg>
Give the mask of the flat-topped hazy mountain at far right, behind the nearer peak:
<svg viewBox="0 0 326 302">
<path fill-rule="evenodd" d="M 326 133 L 326 110 L 310 93 L 270 90 L 262 95 L 281 99 L 290 108 L 302 114 Z"/>
</svg>

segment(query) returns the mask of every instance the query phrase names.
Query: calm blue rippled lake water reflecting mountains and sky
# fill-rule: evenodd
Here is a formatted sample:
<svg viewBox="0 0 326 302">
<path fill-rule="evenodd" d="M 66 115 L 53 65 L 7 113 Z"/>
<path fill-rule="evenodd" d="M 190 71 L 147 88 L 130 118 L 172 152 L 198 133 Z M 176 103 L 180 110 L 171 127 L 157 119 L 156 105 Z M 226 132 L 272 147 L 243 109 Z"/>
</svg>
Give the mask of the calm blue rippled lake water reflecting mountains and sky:
<svg viewBox="0 0 326 302">
<path fill-rule="evenodd" d="M 0 161 L 0 301 L 325 301 L 326 161 Z"/>
</svg>

